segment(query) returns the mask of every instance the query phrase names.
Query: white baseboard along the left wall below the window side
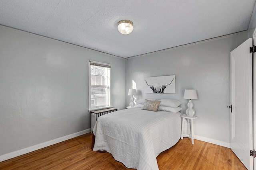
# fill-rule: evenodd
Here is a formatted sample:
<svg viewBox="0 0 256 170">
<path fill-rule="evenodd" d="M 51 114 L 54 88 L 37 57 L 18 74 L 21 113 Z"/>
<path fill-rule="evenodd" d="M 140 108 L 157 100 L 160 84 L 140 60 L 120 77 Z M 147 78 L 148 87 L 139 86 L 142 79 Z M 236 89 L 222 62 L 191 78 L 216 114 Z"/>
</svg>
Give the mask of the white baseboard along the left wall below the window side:
<svg viewBox="0 0 256 170">
<path fill-rule="evenodd" d="M 51 141 L 47 141 L 47 142 L 44 142 L 44 143 L 40 143 L 38 145 L 34 145 L 32 147 L 28 147 L 28 148 L 25 148 L 25 149 L 21 149 L 21 150 L 17 150 L 17 151 L 14 151 L 14 152 L 10 152 L 8 154 L 4 154 L 4 155 L 1 155 L 0 156 L 0 162 L 4 161 L 4 160 L 8 160 L 10 158 L 14 158 L 16 156 L 20 156 L 22 154 L 26 154 L 26 153 L 29 153 L 29 152 L 32 152 L 32 151 L 35 151 L 35 150 L 38 150 L 38 149 L 42 149 L 44 147 L 48 147 L 50 145 L 54 145 L 56 143 L 60 143 L 60 142 L 63 142 L 63 141 L 66 141 L 68 139 L 72 139 L 74 137 L 78 137 L 80 135 L 84 135 L 86 133 L 90 133 L 91 132 L 91 129 L 86 129 L 84 131 L 80 131 L 80 132 L 77 132 L 77 133 L 73 133 L 73 134 L 70 134 L 70 135 L 67 135 L 67 136 L 64 136 L 64 137 L 59 137 L 57 139 L 53 139 Z"/>
</svg>

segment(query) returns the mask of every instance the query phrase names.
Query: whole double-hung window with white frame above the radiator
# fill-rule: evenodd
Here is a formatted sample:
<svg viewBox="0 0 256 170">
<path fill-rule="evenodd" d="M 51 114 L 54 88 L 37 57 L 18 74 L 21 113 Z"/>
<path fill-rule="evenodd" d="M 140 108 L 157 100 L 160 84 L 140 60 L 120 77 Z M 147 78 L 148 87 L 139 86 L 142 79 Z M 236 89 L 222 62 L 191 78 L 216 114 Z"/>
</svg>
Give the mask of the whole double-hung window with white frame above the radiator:
<svg viewBox="0 0 256 170">
<path fill-rule="evenodd" d="M 89 61 L 89 111 L 112 107 L 110 72 L 110 64 Z"/>
</svg>

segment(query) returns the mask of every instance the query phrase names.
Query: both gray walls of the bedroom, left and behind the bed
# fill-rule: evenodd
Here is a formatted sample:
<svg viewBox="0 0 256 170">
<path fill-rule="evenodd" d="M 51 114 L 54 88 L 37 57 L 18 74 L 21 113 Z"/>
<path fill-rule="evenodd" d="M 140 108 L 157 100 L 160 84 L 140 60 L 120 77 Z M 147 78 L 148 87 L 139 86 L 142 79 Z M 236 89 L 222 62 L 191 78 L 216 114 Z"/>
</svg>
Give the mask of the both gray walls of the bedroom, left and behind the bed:
<svg viewBox="0 0 256 170">
<path fill-rule="evenodd" d="M 252 31 L 251 33 L 252 34 Z M 0 155 L 90 129 L 88 60 L 112 64 L 112 105 L 129 106 L 132 80 L 137 98 L 188 100 L 194 88 L 195 134 L 229 143 L 230 51 L 247 31 L 122 59 L 0 26 Z M 176 75 L 176 94 L 146 94 L 144 78 Z"/>
</svg>

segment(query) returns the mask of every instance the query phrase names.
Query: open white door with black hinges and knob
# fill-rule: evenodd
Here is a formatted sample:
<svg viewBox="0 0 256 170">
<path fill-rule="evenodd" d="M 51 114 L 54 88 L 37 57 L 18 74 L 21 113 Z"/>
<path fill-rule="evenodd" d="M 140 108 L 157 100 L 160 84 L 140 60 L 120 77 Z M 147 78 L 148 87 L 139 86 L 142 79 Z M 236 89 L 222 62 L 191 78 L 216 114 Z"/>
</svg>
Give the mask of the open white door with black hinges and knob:
<svg viewBox="0 0 256 170">
<path fill-rule="evenodd" d="M 248 170 L 253 169 L 251 46 L 252 38 L 230 53 L 230 148 Z"/>
</svg>

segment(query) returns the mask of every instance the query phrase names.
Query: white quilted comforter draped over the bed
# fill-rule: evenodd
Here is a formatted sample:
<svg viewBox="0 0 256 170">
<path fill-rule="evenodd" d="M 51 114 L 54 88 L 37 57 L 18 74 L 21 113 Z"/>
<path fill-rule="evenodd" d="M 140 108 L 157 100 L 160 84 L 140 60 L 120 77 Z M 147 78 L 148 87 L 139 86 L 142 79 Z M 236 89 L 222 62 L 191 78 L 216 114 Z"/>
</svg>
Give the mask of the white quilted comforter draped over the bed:
<svg viewBox="0 0 256 170">
<path fill-rule="evenodd" d="M 156 157 L 180 139 L 181 113 L 124 109 L 98 118 L 93 150 L 106 150 L 127 168 L 158 170 Z"/>
</svg>

